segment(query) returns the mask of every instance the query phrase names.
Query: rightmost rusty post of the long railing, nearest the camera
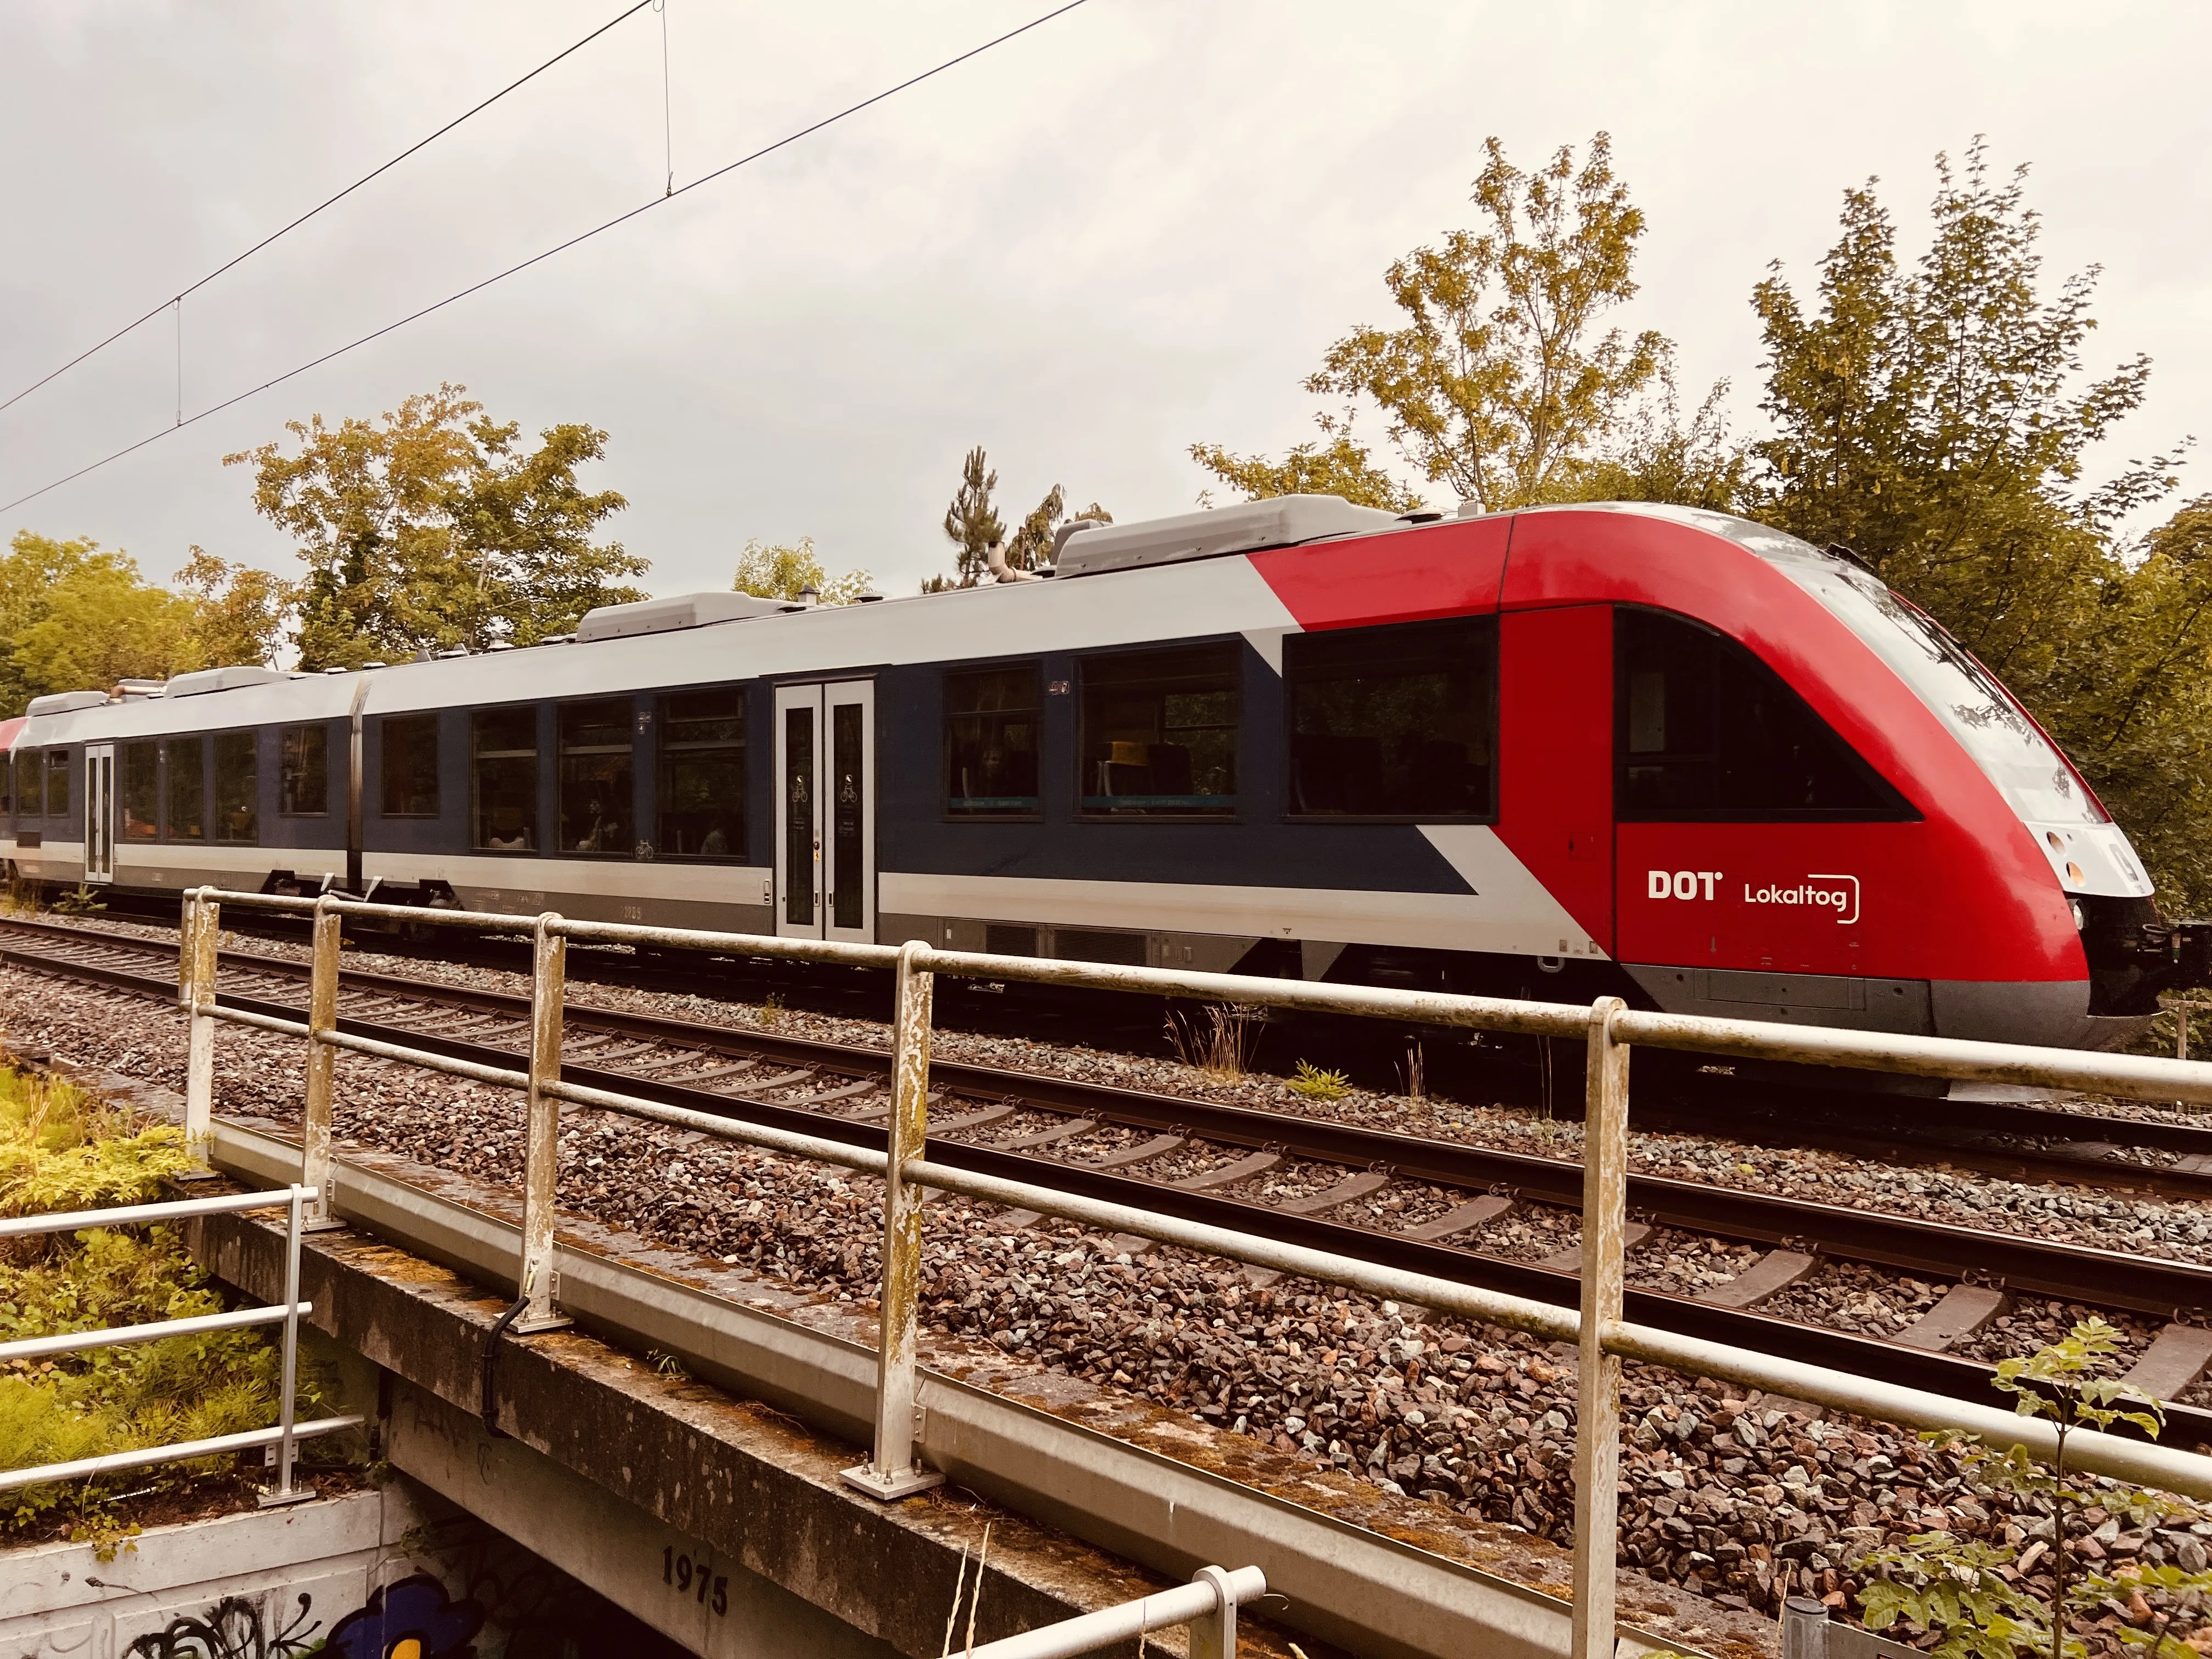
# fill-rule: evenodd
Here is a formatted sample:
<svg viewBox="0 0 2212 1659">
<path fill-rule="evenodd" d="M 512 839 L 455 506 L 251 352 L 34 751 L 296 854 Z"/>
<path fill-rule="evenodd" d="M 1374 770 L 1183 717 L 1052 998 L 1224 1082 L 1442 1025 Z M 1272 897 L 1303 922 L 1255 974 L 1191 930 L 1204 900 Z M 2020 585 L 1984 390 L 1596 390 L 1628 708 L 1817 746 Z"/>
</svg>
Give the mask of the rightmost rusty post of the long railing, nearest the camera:
<svg viewBox="0 0 2212 1659">
<path fill-rule="evenodd" d="M 1621 1323 L 1621 1232 L 1628 1225 L 1628 1044 L 1613 1018 L 1628 1004 L 1590 1004 L 1590 1060 L 1582 1119 L 1582 1356 L 1575 1383 L 1575 1630 L 1573 1659 L 1613 1659 L 1613 1568 L 1619 1551 L 1621 1360 L 1606 1332 Z"/>
</svg>

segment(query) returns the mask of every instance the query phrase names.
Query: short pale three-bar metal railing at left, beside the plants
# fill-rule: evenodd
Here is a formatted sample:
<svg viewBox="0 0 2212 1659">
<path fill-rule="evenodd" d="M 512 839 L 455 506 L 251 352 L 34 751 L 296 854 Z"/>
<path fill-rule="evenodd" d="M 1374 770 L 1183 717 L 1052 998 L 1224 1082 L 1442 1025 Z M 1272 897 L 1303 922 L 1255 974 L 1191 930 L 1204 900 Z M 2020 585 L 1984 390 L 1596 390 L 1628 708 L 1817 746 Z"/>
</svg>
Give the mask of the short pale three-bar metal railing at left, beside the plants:
<svg viewBox="0 0 2212 1659">
<path fill-rule="evenodd" d="M 159 1462 L 188 1462 L 192 1458 L 215 1458 L 226 1451 L 252 1451 L 254 1447 L 276 1449 L 276 1484 L 261 1493 L 263 1506 L 296 1504 L 314 1498 L 312 1486 L 292 1484 L 294 1447 L 301 1440 L 358 1429 L 358 1416 L 316 1418 L 299 1422 L 294 1418 L 294 1387 L 299 1383 L 299 1321 L 314 1312 L 314 1303 L 299 1298 L 299 1237 L 301 1221 L 310 1203 L 321 1194 L 314 1188 L 285 1188 L 283 1192 L 228 1192 L 217 1199 L 173 1199 L 166 1203 L 128 1203 L 115 1210 L 71 1210 L 64 1214 L 31 1214 L 0 1221 L 0 1239 L 35 1239 L 44 1232 L 82 1232 L 86 1228 L 144 1228 L 155 1221 L 190 1221 L 204 1214 L 232 1214 L 237 1210 L 274 1210 L 285 1206 L 285 1270 L 283 1303 L 274 1307 L 234 1307 L 228 1314 L 195 1314 L 190 1318 L 157 1318 L 146 1325 L 111 1325 L 97 1332 L 64 1332 L 60 1336 L 24 1336 L 15 1343 L 0 1343 L 0 1365 L 9 1360 L 38 1360 L 51 1354 L 82 1354 L 95 1347 L 122 1347 L 124 1343 L 159 1343 L 164 1336 L 201 1336 L 206 1332 L 237 1332 L 254 1325 L 283 1325 L 283 1360 L 279 1376 L 276 1422 L 268 1429 L 246 1429 L 210 1440 L 175 1440 L 164 1447 L 139 1447 L 135 1451 L 111 1451 L 100 1458 L 77 1458 L 73 1462 L 46 1462 L 31 1469 L 0 1471 L 0 1491 L 22 1486 L 44 1486 L 58 1480 L 88 1480 L 122 1469 L 146 1469 Z"/>
</svg>

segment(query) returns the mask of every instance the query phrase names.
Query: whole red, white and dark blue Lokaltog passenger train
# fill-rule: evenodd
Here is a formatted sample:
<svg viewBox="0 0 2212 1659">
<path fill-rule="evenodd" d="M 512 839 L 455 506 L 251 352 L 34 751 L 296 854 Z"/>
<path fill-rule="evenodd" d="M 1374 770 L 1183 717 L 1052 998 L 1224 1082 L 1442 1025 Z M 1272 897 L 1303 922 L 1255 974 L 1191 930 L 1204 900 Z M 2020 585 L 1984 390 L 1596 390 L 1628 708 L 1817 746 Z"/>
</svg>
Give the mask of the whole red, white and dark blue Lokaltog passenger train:
<svg viewBox="0 0 2212 1659">
<path fill-rule="evenodd" d="M 42 697 L 20 876 L 336 885 L 2097 1046 L 2205 940 L 1849 553 L 1666 507 L 1294 495 L 1051 580 Z"/>
</svg>

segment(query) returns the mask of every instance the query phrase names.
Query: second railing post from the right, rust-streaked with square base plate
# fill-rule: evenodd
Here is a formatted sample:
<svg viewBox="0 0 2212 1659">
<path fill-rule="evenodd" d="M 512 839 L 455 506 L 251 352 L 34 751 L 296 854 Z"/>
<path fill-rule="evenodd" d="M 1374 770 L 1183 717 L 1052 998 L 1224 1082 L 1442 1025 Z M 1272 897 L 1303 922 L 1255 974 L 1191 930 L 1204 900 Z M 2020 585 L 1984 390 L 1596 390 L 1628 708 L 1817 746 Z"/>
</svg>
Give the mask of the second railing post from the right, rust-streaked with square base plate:
<svg viewBox="0 0 2212 1659">
<path fill-rule="evenodd" d="M 898 951 L 891 1024 L 891 1137 L 883 1170 L 883 1287 L 876 1340 L 876 1449 L 849 1480 L 874 1498 L 907 1498 L 945 1482 L 914 1462 L 914 1325 L 922 1296 L 922 1188 L 905 1179 L 929 1139 L 929 1000 L 933 975 L 916 967 L 929 947 Z"/>
</svg>

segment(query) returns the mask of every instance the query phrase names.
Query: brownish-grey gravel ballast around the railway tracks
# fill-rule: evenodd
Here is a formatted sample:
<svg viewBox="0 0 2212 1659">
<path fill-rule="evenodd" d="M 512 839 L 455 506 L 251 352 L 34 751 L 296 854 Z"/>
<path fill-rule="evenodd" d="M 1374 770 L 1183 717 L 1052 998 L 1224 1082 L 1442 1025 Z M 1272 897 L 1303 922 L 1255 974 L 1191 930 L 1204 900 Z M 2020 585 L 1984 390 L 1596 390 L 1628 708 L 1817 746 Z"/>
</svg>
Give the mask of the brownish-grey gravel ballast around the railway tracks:
<svg viewBox="0 0 2212 1659">
<path fill-rule="evenodd" d="M 378 960 L 349 964 L 515 991 L 518 975 Z M 708 998 L 577 987 L 577 1000 L 692 1013 L 743 1026 L 750 1009 Z M 181 1086 L 184 1022 L 168 1006 L 100 993 L 20 969 L 0 969 L 0 1013 L 18 1046 L 42 1046 L 168 1086 Z M 880 1042 L 880 1026 L 776 1011 L 776 1031 Z M 1579 1128 L 1504 1108 L 1352 1095 L 1316 1106 L 1274 1079 L 1223 1082 L 1172 1062 L 1097 1051 L 1048 1051 L 1009 1037 L 938 1033 L 940 1055 L 1091 1075 L 1139 1088 L 1186 1088 L 1270 1110 L 1316 1110 L 1345 1121 L 1438 1133 L 1511 1150 L 1573 1157 Z M 219 1110 L 296 1117 L 299 1044 L 223 1029 Z M 438 1075 L 345 1055 L 338 1062 L 338 1137 L 422 1164 L 513 1181 L 522 1119 L 511 1095 Z M 845 1110 L 845 1108 L 838 1108 Z M 1022 1128 L 1024 1119 L 1037 1119 Z M 1020 1113 L 975 1135 L 1002 1141 L 1048 1126 Z M 1082 1155 L 1117 1150 L 1104 1133 Z M 1754 1148 L 1683 1135 L 1637 1135 L 1637 1168 L 1747 1190 L 1834 1201 L 1973 1225 L 2079 1237 L 2081 1243 L 2203 1261 L 2212 1243 L 2205 1206 L 2121 1199 L 2070 1188 L 2033 1188 L 1962 1170 L 1869 1168 L 1794 1148 Z M 1152 1179 L 1217 1168 L 1219 1148 L 1192 1141 L 1144 1166 Z M 1190 1168 L 1183 1168 L 1183 1166 Z M 1854 1179 L 1843 1179 L 1854 1177 Z M 1332 1177 L 1334 1179 L 1334 1177 Z M 1274 1183 L 1279 1190 L 1267 1192 Z M 1237 1197 L 1303 1197 L 1327 1186 L 1294 1161 L 1252 1177 Z M 1411 1190 L 1411 1208 L 1460 1201 L 1440 1188 Z M 1433 1194 L 1433 1197 L 1429 1197 Z M 1383 1194 L 1378 1194 L 1383 1197 Z M 703 1135 L 664 1130 L 573 1110 L 562 1133 L 562 1203 L 608 1225 L 745 1263 L 821 1290 L 867 1301 L 876 1283 L 880 1186 L 841 1170 L 796 1166 Z M 1378 1223 L 1360 1206 L 1336 1219 Z M 1405 1210 L 1396 1225 L 1422 1219 Z M 2059 1232 L 2064 1230 L 2064 1232 Z M 1413 1318 L 1413 1310 L 1347 1296 L 1303 1281 L 1254 1290 L 1223 1263 L 1155 1250 L 1128 1254 L 1075 1228 L 1009 1230 L 1006 1219 L 964 1201 L 931 1201 L 925 1318 L 940 1332 L 980 1336 L 1009 1356 L 1130 1389 L 1188 1409 L 1206 1422 L 1332 1464 L 1385 1489 L 1447 1504 L 1491 1522 L 1566 1540 L 1573 1522 L 1573 1358 L 1533 1338 Z M 1566 1210 L 1515 1206 L 1480 1248 L 1540 1259 L 1568 1248 L 1579 1219 Z M 1630 1256 L 1630 1279 L 1697 1294 L 1747 1265 L 1756 1252 L 1697 1234 L 1655 1232 Z M 1825 1263 L 1783 1292 L 1767 1312 L 1823 1318 L 1843 1329 L 1893 1334 L 1942 1294 L 1847 1263 Z M 2022 1303 L 2006 1327 L 2026 1347 L 2048 1340 L 2046 1323 L 2070 1312 Z M 1993 1332 L 1997 1327 L 1991 1327 Z M 2126 1329 L 2130 1349 L 2154 1334 Z M 1986 1336 L 1986 1334 L 1984 1334 Z M 1991 1338 L 1995 1340 L 1995 1338 Z M 2002 1347 L 2002 1345 L 2000 1345 Z M 2013 1349 L 2017 1352 L 2017 1349 Z M 2006 1502 L 1973 1500 L 1949 1451 L 1909 1436 L 1818 1422 L 1725 1389 L 1630 1367 L 1624 1394 L 1621 1559 L 1730 1606 L 1774 1608 L 1785 1590 L 1847 1599 L 1851 1562 L 1865 1548 L 1947 1526 L 1989 1542 L 2026 1537 L 2035 1517 Z M 2095 1515 L 2095 1511 L 2093 1511 Z M 2084 1528 L 2095 1531 L 2104 1515 Z M 2188 1533 L 2121 1533 L 2101 1546 L 2112 1559 L 2183 1557 Z M 2031 1573 L 2031 1584 L 2035 1575 Z M 2115 1617 L 2104 1613 L 2099 1617 Z M 2152 1619 L 2157 1608 L 2152 1608 Z M 2095 1619 L 2090 1619 L 2095 1626 Z M 2194 1630 L 2177 1615 L 2177 1635 Z M 2093 1632 L 2099 1646 L 2110 1630 Z"/>
</svg>

